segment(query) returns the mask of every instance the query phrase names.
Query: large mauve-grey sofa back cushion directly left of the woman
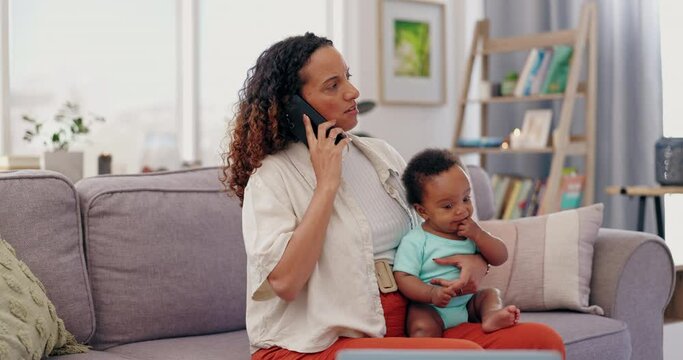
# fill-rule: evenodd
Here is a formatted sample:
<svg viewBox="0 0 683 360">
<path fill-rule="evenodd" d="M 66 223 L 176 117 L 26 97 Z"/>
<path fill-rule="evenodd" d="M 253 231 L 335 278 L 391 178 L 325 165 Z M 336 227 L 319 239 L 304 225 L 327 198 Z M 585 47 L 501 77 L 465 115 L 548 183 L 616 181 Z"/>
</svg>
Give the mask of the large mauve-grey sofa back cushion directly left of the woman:
<svg viewBox="0 0 683 360">
<path fill-rule="evenodd" d="M 245 327 L 241 208 L 218 168 L 78 182 L 96 349 Z"/>
</svg>

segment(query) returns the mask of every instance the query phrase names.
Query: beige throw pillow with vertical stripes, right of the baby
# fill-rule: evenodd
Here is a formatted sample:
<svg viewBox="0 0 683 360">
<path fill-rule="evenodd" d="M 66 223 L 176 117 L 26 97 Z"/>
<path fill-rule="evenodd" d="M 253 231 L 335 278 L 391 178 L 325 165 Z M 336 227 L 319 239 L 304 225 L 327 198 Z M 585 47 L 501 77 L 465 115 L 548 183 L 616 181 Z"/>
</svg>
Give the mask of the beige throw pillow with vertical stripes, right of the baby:
<svg viewBox="0 0 683 360">
<path fill-rule="evenodd" d="M 544 216 L 480 222 L 508 247 L 505 264 L 491 269 L 482 287 L 497 287 L 522 310 L 575 310 L 603 315 L 589 305 L 593 244 L 602 204 Z"/>
</svg>

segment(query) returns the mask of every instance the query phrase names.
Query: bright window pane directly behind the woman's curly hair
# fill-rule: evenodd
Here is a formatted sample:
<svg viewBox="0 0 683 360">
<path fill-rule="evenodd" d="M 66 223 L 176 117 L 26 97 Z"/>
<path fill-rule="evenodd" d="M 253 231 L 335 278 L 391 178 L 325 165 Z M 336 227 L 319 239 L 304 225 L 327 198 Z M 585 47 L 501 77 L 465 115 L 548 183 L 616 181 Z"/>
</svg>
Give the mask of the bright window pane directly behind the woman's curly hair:
<svg viewBox="0 0 683 360">
<path fill-rule="evenodd" d="M 306 31 L 331 36 L 329 1 L 204 0 L 200 4 L 200 146 L 203 165 L 221 163 L 228 121 L 247 70 L 273 43 Z"/>
</svg>

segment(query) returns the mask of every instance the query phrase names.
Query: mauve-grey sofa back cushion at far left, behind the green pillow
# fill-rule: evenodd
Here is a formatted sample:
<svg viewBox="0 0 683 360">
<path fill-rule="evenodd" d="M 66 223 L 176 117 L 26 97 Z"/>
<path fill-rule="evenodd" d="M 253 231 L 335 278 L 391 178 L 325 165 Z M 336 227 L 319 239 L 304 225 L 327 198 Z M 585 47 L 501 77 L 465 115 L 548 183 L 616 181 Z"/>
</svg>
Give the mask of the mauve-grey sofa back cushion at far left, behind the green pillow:
<svg viewBox="0 0 683 360">
<path fill-rule="evenodd" d="M 0 172 L 0 237 L 45 285 L 66 328 L 81 342 L 95 331 L 76 191 L 56 172 Z"/>
</svg>

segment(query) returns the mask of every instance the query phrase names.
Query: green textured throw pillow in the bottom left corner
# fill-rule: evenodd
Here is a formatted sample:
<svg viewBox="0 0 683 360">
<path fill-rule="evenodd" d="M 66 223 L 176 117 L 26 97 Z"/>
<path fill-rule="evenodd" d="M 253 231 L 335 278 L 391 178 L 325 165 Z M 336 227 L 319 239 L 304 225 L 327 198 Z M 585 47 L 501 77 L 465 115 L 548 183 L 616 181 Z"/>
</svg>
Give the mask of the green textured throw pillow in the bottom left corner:
<svg viewBox="0 0 683 360">
<path fill-rule="evenodd" d="M 40 280 L 0 239 L 0 359 L 41 359 L 87 350 L 64 328 Z"/>
</svg>

